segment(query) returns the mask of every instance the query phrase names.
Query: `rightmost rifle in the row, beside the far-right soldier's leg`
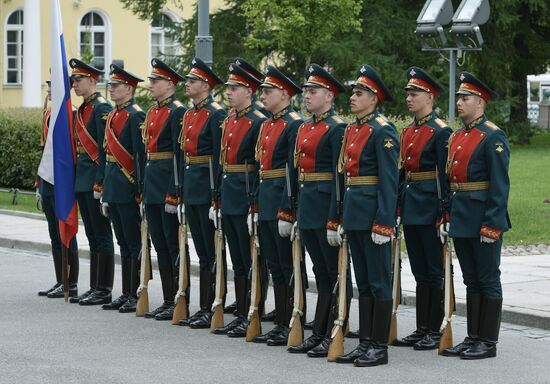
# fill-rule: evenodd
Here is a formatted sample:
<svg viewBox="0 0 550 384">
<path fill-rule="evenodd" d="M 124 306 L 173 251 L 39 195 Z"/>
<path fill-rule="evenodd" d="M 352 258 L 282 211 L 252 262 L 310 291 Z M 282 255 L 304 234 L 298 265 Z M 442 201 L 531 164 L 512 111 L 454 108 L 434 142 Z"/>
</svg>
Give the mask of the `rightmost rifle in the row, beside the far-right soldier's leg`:
<svg viewBox="0 0 550 384">
<path fill-rule="evenodd" d="M 445 206 L 441 196 L 441 184 L 439 181 L 439 173 L 436 168 L 436 182 L 437 182 L 437 197 L 439 200 L 439 211 L 442 214 L 443 220 L 445 220 Z M 447 348 L 453 346 L 453 328 L 451 326 L 451 318 L 455 310 L 454 302 L 454 284 L 453 284 L 453 251 L 449 244 L 450 240 L 447 236 L 445 243 L 443 244 L 443 257 L 445 258 L 445 298 L 444 298 L 444 318 L 441 326 L 441 337 L 439 339 L 439 354 Z"/>
</svg>

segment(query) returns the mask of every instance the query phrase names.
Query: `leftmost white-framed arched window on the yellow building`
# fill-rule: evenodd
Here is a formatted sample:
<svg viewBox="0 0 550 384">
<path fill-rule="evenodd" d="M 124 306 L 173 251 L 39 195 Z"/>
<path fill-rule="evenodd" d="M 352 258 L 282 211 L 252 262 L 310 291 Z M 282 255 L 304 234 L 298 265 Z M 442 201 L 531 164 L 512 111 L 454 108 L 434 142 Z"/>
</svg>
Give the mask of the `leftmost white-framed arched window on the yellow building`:
<svg viewBox="0 0 550 384">
<path fill-rule="evenodd" d="M 6 20 L 5 83 L 23 83 L 23 10 L 13 11 Z"/>
</svg>

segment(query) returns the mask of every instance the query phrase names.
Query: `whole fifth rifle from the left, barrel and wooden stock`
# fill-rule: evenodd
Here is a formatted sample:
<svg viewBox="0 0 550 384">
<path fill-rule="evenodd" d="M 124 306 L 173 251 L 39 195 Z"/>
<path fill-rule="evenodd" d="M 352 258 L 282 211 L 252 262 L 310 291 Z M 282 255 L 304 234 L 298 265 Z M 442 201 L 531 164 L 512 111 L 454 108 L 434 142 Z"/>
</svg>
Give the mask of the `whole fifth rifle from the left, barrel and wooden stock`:
<svg viewBox="0 0 550 384">
<path fill-rule="evenodd" d="M 290 184 L 290 171 L 288 164 L 286 165 L 286 189 L 290 209 L 296 213 L 296 198 L 292 196 L 292 188 Z M 292 241 L 292 280 L 294 280 L 294 308 L 292 309 L 292 317 L 290 318 L 287 345 L 300 345 L 304 341 L 304 326 L 302 317 L 304 316 L 304 286 L 302 282 L 302 240 L 300 235 L 296 233 Z"/>
</svg>

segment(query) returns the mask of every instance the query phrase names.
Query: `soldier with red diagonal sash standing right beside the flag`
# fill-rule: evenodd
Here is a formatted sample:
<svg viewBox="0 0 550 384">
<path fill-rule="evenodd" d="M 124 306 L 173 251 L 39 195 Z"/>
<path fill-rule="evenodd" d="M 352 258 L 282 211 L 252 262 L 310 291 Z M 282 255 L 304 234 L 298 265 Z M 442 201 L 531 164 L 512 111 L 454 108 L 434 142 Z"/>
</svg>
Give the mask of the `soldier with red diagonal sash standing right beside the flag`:
<svg viewBox="0 0 550 384">
<path fill-rule="evenodd" d="M 101 214 L 100 198 L 105 173 L 105 121 L 113 107 L 96 91 L 102 71 L 78 59 L 71 59 L 73 89 L 84 102 L 74 121 L 78 159 L 75 193 L 90 244 L 90 289 L 71 303 L 99 305 L 111 302 L 115 259 L 113 232 L 108 219 Z"/>
</svg>

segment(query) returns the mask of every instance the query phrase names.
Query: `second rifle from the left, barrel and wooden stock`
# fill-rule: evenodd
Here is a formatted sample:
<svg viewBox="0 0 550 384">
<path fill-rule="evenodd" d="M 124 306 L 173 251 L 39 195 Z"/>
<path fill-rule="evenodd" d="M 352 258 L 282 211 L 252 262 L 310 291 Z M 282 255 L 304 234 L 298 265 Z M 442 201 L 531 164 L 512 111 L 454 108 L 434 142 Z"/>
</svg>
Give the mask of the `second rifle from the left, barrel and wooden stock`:
<svg viewBox="0 0 550 384">
<path fill-rule="evenodd" d="M 176 195 L 180 196 L 180 183 L 178 175 L 178 165 L 176 157 L 174 156 L 174 180 L 176 184 Z M 172 324 L 176 325 L 180 320 L 185 320 L 189 316 L 188 307 L 188 294 L 189 289 L 189 245 L 187 244 L 187 225 L 185 222 L 185 214 L 181 210 L 181 205 L 178 205 L 178 216 L 180 216 L 181 223 L 178 228 L 178 243 L 179 243 L 179 255 L 176 265 L 179 263 L 178 270 L 178 292 L 174 298 L 175 307 L 172 315 Z"/>
</svg>

